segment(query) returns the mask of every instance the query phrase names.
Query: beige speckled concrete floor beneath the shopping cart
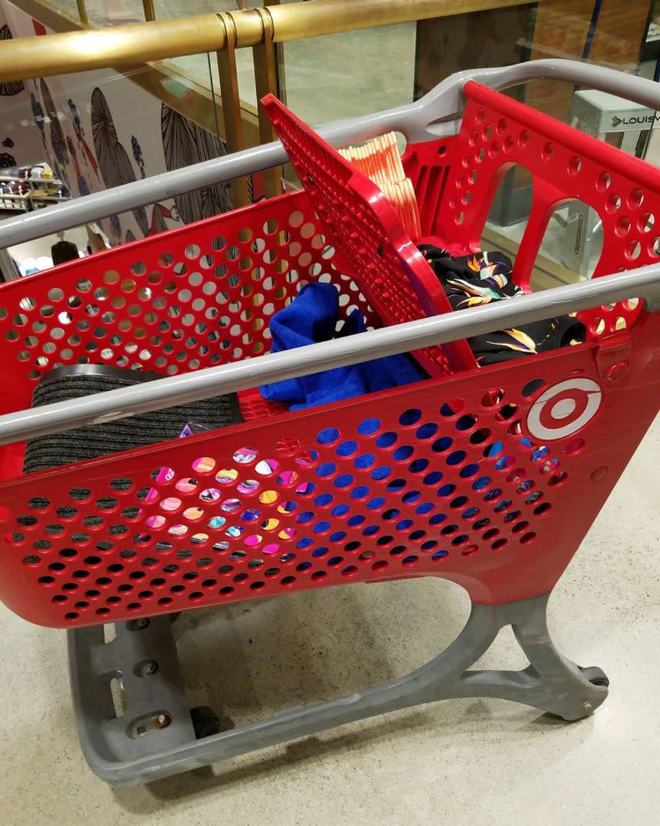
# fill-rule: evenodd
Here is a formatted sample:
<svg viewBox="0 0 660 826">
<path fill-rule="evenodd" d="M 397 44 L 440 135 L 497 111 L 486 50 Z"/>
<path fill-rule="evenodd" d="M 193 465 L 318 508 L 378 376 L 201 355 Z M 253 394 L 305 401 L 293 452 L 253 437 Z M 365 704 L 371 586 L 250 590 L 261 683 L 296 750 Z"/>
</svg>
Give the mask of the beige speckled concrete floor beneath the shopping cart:
<svg viewBox="0 0 660 826">
<path fill-rule="evenodd" d="M 622 422 L 622 426 L 624 423 Z M 646 826 L 660 812 L 660 420 L 550 603 L 560 650 L 612 681 L 564 724 L 496 700 L 390 714 L 159 781 L 112 790 L 78 749 L 64 632 L 0 610 L 2 826 L 541 824 Z M 467 616 L 458 588 L 344 586 L 193 612 L 178 633 L 194 703 L 235 722 L 401 674 Z M 498 638 L 489 667 L 524 663 Z"/>
</svg>

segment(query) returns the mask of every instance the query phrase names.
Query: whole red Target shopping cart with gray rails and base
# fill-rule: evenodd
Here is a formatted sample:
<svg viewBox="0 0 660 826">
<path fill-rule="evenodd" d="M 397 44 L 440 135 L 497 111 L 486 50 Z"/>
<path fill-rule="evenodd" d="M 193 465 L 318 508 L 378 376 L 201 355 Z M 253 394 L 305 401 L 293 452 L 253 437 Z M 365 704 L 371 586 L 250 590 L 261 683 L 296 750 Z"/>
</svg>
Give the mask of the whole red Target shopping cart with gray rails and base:
<svg viewBox="0 0 660 826">
<path fill-rule="evenodd" d="M 70 629 L 79 734 L 98 775 L 153 780 L 447 697 L 502 697 L 564 719 L 605 699 L 600 669 L 553 648 L 545 608 L 658 412 L 660 171 L 488 88 L 552 74 L 660 102 L 653 83 L 590 73 L 539 61 L 475 73 L 483 83 L 459 75 L 331 135 L 339 144 L 407 132 L 425 240 L 455 251 L 477 248 L 497 183 L 524 165 L 534 205 L 515 280 L 529 288 L 548 218 L 574 197 L 603 222 L 589 282 L 448 311 L 382 193 L 270 99 L 301 191 L 0 287 L 0 598 L 32 622 Z M 255 150 L 253 169 L 277 152 Z M 226 161 L 226 177 L 250 171 L 245 157 Z M 358 307 L 373 329 L 267 354 L 269 319 L 315 279 L 335 285 L 343 317 Z M 465 339 L 558 311 L 580 312 L 586 343 L 476 367 Z M 430 378 L 298 412 L 254 390 L 400 352 L 415 353 Z M 164 378 L 30 410 L 39 378 L 72 363 Z M 21 440 L 234 391 L 242 425 L 21 475 Z M 458 582 L 472 599 L 463 633 L 428 665 L 196 737 L 170 614 L 420 576 Z M 116 638 L 105 643 L 110 623 Z M 509 624 L 529 667 L 470 671 Z"/>
</svg>

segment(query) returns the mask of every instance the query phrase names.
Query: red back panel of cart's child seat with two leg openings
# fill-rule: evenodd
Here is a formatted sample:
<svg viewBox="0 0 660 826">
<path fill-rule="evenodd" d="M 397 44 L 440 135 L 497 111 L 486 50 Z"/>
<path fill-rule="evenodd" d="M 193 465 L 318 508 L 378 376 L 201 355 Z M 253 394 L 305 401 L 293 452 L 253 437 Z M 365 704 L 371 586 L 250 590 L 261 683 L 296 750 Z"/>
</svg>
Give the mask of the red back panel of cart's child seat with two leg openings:
<svg viewBox="0 0 660 826">
<path fill-rule="evenodd" d="M 514 278 L 521 287 L 529 289 L 550 216 L 571 198 L 588 204 L 603 222 L 594 278 L 658 263 L 660 169 L 478 83 L 467 83 L 464 94 L 467 105 L 437 216 L 439 235 L 463 249 L 478 249 L 502 175 L 521 164 L 534 188 L 515 256 Z M 596 337 L 626 329 L 640 311 L 639 301 L 622 301 L 580 317 Z"/>
</svg>

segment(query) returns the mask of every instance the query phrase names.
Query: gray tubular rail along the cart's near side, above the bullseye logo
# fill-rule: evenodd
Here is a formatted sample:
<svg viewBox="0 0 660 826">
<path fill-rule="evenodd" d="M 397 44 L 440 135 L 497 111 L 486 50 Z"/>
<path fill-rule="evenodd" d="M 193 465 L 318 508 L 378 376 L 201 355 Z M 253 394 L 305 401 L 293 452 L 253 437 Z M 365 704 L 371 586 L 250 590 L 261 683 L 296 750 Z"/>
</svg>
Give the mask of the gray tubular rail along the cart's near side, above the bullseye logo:
<svg viewBox="0 0 660 826">
<path fill-rule="evenodd" d="M 642 267 L 593 281 L 555 287 L 515 301 L 498 301 L 343 339 L 309 344 L 283 353 L 247 358 L 196 373 L 83 396 L 75 401 L 2 415 L 0 444 L 100 424 L 260 384 L 414 351 L 431 344 L 446 344 L 633 297 L 643 298 L 648 310 L 660 309 L 660 267 Z"/>
</svg>

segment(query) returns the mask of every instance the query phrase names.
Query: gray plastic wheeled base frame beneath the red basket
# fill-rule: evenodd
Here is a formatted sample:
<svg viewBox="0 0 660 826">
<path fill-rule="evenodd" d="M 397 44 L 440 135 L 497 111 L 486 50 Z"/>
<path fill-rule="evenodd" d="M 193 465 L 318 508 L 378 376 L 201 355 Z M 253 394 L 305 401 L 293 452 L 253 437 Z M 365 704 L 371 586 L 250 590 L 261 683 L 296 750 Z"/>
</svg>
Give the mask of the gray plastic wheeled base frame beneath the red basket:
<svg viewBox="0 0 660 826">
<path fill-rule="evenodd" d="M 605 700 L 608 681 L 600 669 L 577 667 L 554 648 L 546 622 L 548 596 L 472 605 L 458 638 L 400 679 L 202 739 L 192 725 L 169 617 L 117 624 L 109 643 L 102 626 L 69 631 L 71 685 L 85 758 L 112 785 L 137 785 L 373 714 L 452 697 L 514 700 L 566 720 L 582 719 Z M 519 672 L 469 671 L 506 625 L 512 626 L 529 666 Z M 113 680 L 121 681 L 126 703 L 119 717 Z"/>
</svg>

